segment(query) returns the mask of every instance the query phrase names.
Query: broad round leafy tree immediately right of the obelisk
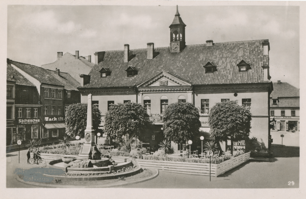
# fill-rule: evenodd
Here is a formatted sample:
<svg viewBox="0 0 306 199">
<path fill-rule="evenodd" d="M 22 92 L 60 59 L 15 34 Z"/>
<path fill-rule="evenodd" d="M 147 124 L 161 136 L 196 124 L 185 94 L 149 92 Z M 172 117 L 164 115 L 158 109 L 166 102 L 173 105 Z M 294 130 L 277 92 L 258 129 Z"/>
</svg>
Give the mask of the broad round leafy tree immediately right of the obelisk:
<svg viewBox="0 0 306 199">
<path fill-rule="evenodd" d="M 105 116 L 105 133 L 116 139 L 127 135 L 141 136 L 149 125 L 149 115 L 145 108 L 138 103 L 119 103 L 110 107 Z M 137 140 L 137 139 L 136 139 Z"/>
</svg>

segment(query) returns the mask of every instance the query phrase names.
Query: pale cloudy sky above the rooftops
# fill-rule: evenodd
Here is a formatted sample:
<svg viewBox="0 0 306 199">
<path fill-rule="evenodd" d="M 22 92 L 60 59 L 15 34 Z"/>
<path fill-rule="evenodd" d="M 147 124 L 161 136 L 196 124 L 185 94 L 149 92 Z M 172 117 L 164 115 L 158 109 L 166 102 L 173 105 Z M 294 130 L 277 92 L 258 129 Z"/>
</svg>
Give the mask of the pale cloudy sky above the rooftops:
<svg viewBox="0 0 306 199">
<path fill-rule="evenodd" d="M 9 5 L 7 58 L 41 66 L 57 52 L 91 55 L 106 50 L 169 46 L 176 6 L 186 26 L 186 45 L 268 39 L 270 75 L 299 88 L 298 6 L 190 6 L 183 2 L 150 6 Z"/>
</svg>

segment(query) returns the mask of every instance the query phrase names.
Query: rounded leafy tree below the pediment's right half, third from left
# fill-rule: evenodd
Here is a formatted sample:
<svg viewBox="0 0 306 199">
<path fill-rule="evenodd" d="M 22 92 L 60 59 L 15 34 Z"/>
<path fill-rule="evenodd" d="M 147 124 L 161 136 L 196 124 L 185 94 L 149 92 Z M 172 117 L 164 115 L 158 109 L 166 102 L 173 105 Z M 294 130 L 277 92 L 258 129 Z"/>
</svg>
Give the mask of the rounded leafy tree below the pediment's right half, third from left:
<svg viewBox="0 0 306 199">
<path fill-rule="evenodd" d="M 183 144 L 199 134 L 199 111 L 191 103 L 170 104 L 164 113 L 164 135 L 176 144 Z"/>
</svg>

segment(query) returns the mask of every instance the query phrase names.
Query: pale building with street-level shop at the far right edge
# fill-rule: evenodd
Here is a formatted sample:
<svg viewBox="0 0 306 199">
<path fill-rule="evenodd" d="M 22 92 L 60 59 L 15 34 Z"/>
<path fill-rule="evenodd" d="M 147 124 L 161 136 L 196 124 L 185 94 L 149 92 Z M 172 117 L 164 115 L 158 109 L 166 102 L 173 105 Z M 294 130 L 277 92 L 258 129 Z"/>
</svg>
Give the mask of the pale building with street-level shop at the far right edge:
<svg viewBox="0 0 306 199">
<path fill-rule="evenodd" d="M 273 82 L 270 96 L 271 130 L 299 131 L 299 89 L 289 83 Z"/>
</svg>

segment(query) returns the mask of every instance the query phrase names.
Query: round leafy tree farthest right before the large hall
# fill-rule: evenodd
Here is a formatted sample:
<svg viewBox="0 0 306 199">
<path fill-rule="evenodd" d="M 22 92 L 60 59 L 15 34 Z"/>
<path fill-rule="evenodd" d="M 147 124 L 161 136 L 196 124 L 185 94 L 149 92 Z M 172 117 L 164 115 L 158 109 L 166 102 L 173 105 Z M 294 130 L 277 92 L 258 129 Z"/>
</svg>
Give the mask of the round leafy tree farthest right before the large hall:
<svg viewBox="0 0 306 199">
<path fill-rule="evenodd" d="M 250 111 L 238 105 L 237 101 L 216 103 L 209 113 L 211 133 L 216 140 L 231 139 L 233 154 L 233 141 L 245 140 L 250 134 L 251 116 Z"/>
</svg>

